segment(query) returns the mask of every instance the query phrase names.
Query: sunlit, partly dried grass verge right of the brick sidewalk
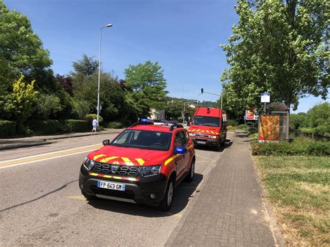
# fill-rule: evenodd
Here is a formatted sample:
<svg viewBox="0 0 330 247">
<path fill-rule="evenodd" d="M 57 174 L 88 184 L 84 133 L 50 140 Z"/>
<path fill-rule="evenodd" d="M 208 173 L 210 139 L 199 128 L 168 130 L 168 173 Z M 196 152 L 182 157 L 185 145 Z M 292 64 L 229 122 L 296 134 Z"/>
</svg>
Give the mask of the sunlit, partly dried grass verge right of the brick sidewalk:
<svg viewBox="0 0 330 247">
<path fill-rule="evenodd" d="M 253 158 L 288 245 L 330 244 L 330 158 Z"/>
</svg>

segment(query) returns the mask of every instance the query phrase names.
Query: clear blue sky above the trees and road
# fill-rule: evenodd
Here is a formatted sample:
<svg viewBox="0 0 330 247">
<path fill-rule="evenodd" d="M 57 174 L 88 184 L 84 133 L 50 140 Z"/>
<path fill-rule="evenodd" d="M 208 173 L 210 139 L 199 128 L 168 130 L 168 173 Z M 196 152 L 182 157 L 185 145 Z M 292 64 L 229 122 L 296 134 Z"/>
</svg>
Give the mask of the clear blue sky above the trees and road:
<svg viewBox="0 0 330 247">
<path fill-rule="evenodd" d="M 228 42 L 237 22 L 235 0 L 5 0 L 31 20 L 50 51 L 55 74 L 68 74 L 82 54 L 98 59 L 102 31 L 102 69 L 124 79 L 129 64 L 159 62 L 168 95 L 217 100 L 219 76 L 227 66 L 219 44 Z M 329 99 L 328 99 L 329 101 Z M 307 111 L 322 99 L 301 99 Z"/>
</svg>

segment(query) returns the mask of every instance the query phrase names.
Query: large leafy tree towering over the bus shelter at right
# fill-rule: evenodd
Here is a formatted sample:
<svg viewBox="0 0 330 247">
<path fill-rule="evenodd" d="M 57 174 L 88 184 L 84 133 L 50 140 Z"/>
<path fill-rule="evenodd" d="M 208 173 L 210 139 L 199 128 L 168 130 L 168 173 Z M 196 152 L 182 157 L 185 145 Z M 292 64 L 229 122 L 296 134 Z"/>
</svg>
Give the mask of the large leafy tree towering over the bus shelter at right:
<svg viewBox="0 0 330 247">
<path fill-rule="evenodd" d="M 260 93 L 297 109 L 307 94 L 329 92 L 327 0 L 239 0 L 239 15 L 226 51 L 230 67 L 221 76 L 228 105 L 258 105 Z"/>
</svg>

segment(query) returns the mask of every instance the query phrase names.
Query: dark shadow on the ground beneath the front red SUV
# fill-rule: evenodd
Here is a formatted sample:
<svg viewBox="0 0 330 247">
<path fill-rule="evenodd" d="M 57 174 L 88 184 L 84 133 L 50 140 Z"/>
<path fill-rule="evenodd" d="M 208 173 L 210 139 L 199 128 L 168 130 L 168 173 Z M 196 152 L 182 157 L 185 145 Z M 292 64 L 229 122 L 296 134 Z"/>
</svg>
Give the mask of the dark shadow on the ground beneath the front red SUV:
<svg viewBox="0 0 330 247">
<path fill-rule="evenodd" d="M 173 214 L 178 214 L 187 204 L 190 198 L 193 198 L 193 193 L 196 191 L 198 184 L 203 180 L 203 175 L 195 173 L 194 181 L 182 182 L 175 189 L 173 198 L 173 205 L 169 212 L 162 212 L 157 207 L 150 207 L 147 205 L 139 205 L 129 202 L 118 202 L 116 200 L 107 200 L 98 198 L 97 200 L 91 200 L 89 205 L 102 210 L 108 210 L 111 212 L 117 212 L 121 214 L 132 214 L 143 217 L 167 217 Z M 199 193 L 199 191 L 196 191 Z"/>
</svg>

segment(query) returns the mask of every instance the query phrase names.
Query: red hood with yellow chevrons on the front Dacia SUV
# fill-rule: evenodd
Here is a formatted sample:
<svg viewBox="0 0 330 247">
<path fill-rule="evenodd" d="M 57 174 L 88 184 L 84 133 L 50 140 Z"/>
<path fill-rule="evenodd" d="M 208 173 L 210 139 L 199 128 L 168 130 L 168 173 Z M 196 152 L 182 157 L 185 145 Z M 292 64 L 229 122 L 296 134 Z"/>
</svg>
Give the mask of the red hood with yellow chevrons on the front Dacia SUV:
<svg viewBox="0 0 330 247">
<path fill-rule="evenodd" d="M 139 148 L 123 148 L 104 146 L 88 154 L 88 159 L 107 164 L 121 166 L 152 166 L 163 164 L 168 159 L 168 151 L 145 150 Z"/>
</svg>

